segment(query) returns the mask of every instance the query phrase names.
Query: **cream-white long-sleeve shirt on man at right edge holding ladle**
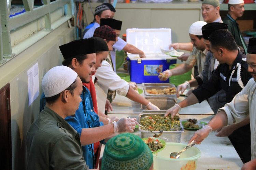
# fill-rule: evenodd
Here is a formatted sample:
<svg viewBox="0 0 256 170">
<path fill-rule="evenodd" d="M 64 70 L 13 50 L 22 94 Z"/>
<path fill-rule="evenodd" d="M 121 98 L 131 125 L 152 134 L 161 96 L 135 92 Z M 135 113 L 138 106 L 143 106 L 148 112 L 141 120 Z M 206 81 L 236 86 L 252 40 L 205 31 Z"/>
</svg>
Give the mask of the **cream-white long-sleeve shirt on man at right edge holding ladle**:
<svg viewBox="0 0 256 170">
<path fill-rule="evenodd" d="M 251 126 L 251 149 L 252 159 L 256 158 L 256 82 L 254 79 L 248 81 L 244 89 L 239 92 L 230 103 L 218 111 L 225 111 L 228 118 L 228 124 L 239 123 L 248 115 L 250 116 Z M 249 114 L 250 113 L 250 114 Z"/>
</svg>

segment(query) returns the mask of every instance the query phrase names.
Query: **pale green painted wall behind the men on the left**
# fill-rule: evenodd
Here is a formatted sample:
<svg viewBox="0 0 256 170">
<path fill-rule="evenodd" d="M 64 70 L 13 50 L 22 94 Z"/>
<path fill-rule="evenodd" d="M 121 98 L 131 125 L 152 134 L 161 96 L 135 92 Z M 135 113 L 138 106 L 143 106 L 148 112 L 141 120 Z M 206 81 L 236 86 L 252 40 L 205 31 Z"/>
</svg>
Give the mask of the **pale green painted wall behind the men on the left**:
<svg viewBox="0 0 256 170">
<path fill-rule="evenodd" d="M 0 67 L 0 88 L 10 83 L 13 169 L 26 169 L 26 134 L 30 124 L 39 116 L 40 96 L 28 106 L 27 70 L 38 62 L 41 86 L 45 72 L 61 65 L 63 58 L 58 47 L 74 40 L 74 31 L 65 22 Z"/>
</svg>

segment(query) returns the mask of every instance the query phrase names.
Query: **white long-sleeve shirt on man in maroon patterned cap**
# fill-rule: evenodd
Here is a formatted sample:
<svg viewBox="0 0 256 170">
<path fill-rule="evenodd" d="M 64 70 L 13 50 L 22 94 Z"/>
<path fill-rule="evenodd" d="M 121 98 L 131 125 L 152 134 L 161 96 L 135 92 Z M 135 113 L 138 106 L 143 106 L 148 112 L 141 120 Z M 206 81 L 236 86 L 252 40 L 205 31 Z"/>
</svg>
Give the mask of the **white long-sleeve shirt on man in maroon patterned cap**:
<svg viewBox="0 0 256 170">
<path fill-rule="evenodd" d="M 129 91 L 129 84 L 121 79 L 106 61 L 102 62 L 102 65 L 97 69 L 95 76 L 98 79 L 95 84 L 98 108 L 99 111 L 104 113 L 108 90 L 116 90 L 118 95 L 126 96 Z"/>
</svg>

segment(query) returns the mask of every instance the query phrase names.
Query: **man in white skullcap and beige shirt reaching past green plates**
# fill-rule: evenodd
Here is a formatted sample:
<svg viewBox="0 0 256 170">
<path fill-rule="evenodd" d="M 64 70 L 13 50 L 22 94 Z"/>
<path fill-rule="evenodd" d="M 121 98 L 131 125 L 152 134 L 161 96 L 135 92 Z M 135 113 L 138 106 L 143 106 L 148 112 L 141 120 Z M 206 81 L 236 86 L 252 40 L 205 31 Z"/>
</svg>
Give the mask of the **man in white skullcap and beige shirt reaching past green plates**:
<svg viewBox="0 0 256 170">
<path fill-rule="evenodd" d="M 198 73 L 200 74 L 204 68 L 204 61 L 205 56 L 208 53 L 208 49 L 206 48 L 206 45 L 203 41 L 203 34 L 202 34 L 202 27 L 207 24 L 204 21 L 197 21 L 191 24 L 189 28 L 189 37 L 191 39 L 191 43 L 193 44 L 193 50 L 190 53 L 186 63 L 183 63 L 179 65 L 178 67 L 175 67 L 171 70 L 165 70 L 163 71 L 163 74 L 165 76 L 162 77 L 162 75 L 159 75 L 160 80 L 167 80 L 172 75 L 180 75 L 188 72 L 191 70 L 195 65 L 197 65 Z M 188 81 L 184 82 L 183 84 L 179 85 L 177 87 L 177 95 L 179 96 L 179 91 L 182 89 L 189 88 L 190 84 Z M 182 90 L 182 93 L 184 90 Z"/>
</svg>

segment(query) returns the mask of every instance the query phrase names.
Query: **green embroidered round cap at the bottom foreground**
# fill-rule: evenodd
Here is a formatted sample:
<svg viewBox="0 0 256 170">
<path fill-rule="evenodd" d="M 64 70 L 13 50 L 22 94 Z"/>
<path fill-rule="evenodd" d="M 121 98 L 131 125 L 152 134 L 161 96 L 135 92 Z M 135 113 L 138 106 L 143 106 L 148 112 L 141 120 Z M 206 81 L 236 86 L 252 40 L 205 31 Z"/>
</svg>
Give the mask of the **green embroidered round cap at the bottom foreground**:
<svg viewBox="0 0 256 170">
<path fill-rule="evenodd" d="M 139 136 L 125 133 L 111 138 L 105 145 L 101 170 L 148 170 L 153 163 L 150 148 Z"/>
</svg>

